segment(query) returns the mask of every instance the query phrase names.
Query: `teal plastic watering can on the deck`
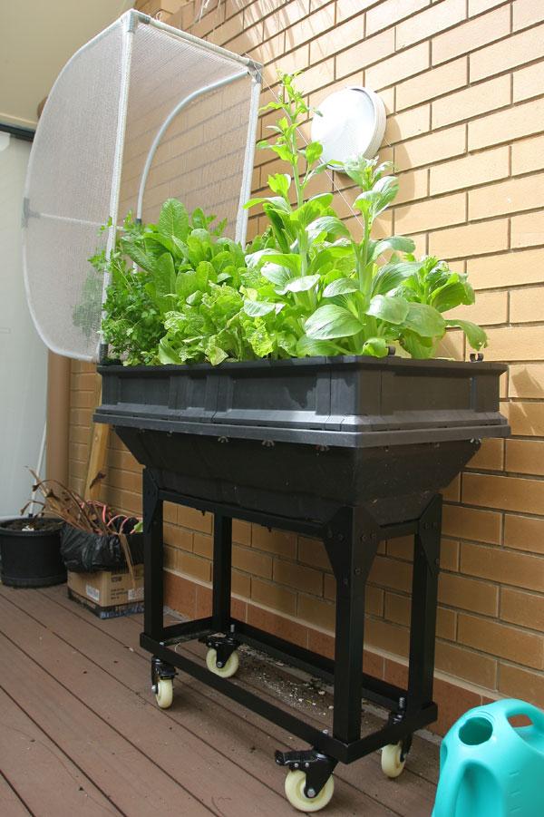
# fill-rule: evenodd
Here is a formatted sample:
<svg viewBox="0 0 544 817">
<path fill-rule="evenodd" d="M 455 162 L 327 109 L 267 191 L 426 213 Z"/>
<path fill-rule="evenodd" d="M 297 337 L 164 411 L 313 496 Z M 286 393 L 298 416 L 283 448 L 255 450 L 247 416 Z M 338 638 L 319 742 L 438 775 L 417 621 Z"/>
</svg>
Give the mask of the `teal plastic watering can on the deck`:
<svg viewBox="0 0 544 817">
<path fill-rule="evenodd" d="M 529 725 L 512 725 L 524 715 Z M 432 817 L 544 817 L 544 712 L 507 699 L 470 709 L 442 741 Z"/>
</svg>

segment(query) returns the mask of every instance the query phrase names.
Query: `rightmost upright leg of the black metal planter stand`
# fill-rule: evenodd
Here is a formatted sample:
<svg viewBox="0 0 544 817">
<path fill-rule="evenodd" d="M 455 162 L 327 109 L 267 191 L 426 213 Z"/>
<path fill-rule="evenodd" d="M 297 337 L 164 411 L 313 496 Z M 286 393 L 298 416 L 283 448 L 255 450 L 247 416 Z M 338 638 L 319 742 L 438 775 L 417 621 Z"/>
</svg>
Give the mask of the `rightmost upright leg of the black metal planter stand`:
<svg viewBox="0 0 544 817">
<path fill-rule="evenodd" d="M 407 714 L 432 703 L 441 526 L 437 495 L 423 511 L 414 541 Z"/>
</svg>

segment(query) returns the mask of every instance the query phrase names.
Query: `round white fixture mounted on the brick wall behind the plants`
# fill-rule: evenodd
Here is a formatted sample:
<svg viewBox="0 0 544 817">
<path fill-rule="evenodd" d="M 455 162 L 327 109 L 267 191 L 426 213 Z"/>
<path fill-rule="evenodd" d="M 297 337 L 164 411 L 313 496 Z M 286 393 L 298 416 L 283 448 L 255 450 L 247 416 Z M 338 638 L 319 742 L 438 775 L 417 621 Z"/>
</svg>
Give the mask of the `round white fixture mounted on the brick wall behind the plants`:
<svg viewBox="0 0 544 817">
<path fill-rule="evenodd" d="M 312 121 L 312 141 L 323 145 L 322 160 L 327 164 L 360 153 L 373 159 L 384 131 L 384 102 L 374 91 L 355 86 L 329 94 Z"/>
</svg>

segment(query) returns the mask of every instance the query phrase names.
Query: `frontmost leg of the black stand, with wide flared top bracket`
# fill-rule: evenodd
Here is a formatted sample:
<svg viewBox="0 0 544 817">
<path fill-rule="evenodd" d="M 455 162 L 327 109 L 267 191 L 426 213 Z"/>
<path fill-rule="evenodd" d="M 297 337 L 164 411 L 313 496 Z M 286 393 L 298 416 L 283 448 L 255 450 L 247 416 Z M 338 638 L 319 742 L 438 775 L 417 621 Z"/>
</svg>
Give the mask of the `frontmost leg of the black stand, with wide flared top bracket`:
<svg viewBox="0 0 544 817">
<path fill-rule="evenodd" d="M 325 547 L 336 579 L 335 738 L 361 736 L 364 590 L 379 529 L 360 509 L 343 508 L 326 531 Z"/>
</svg>

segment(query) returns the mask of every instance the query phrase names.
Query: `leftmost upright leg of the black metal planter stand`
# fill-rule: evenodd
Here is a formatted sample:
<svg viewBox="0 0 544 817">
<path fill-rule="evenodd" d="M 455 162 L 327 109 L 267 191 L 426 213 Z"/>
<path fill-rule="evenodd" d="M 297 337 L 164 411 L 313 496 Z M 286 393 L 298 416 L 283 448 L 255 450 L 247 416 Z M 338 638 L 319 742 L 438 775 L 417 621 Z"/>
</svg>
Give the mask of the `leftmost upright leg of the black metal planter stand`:
<svg viewBox="0 0 544 817">
<path fill-rule="evenodd" d="M 162 501 L 159 489 L 149 469 L 143 472 L 143 532 L 144 532 L 144 613 L 146 636 L 161 641 L 163 637 L 163 553 Z"/>
</svg>

